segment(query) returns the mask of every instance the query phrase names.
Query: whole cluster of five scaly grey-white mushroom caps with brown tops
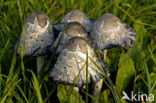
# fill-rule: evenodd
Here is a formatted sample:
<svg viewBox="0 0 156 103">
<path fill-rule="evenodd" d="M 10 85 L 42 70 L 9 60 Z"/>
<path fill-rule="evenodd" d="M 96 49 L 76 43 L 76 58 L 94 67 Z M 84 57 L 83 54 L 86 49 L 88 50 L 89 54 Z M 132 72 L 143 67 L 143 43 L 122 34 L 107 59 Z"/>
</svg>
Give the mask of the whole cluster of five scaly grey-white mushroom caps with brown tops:
<svg viewBox="0 0 156 103">
<path fill-rule="evenodd" d="M 86 84 L 86 78 L 91 83 L 103 79 L 103 72 L 109 75 L 106 63 L 98 58 L 95 48 L 101 51 L 113 46 L 128 49 L 133 46 L 136 36 L 130 26 L 113 14 L 104 14 L 92 21 L 80 10 L 72 10 L 55 26 L 43 12 L 34 12 L 28 17 L 24 30 L 19 54 L 23 43 L 24 56 L 38 57 L 57 49 L 58 59 L 49 76 L 54 81 L 74 83 L 78 87 Z M 99 70 L 95 63 L 102 69 Z"/>
</svg>

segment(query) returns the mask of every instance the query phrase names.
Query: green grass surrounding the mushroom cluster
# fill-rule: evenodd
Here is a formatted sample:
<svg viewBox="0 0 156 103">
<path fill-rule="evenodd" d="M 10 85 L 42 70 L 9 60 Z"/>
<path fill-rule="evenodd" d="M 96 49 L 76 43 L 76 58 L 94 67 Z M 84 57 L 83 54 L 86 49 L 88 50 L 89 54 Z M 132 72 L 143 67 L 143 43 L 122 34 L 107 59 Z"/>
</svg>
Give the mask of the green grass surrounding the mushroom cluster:
<svg viewBox="0 0 156 103">
<path fill-rule="evenodd" d="M 152 93 L 156 101 L 155 0 L 0 0 L 0 103 L 65 102 L 63 98 L 66 96 L 62 94 L 69 94 L 66 92 L 70 86 L 57 86 L 47 75 L 38 80 L 35 58 L 19 58 L 12 51 L 12 47 L 19 40 L 26 18 L 32 12 L 43 11 L 55 24 L 73 9 L 82 10 L 92 19 L 97 19 L 103 13 L 113 13 L 132 26 L 137 35 L 134 47 L 127 53 L 120 48 L 108 50 L 106 62 L 110 67 L 109 80 L 113 90 L 104 83 L 102 93 L 94 98 L 95 101 L 115 103 L 117 100 L 113 95 L 119 96 L 121 100 L 122 91 L 129 96 L 131 91 L 148 95 Z M 129 67 L 134 67 L 131 74 Z M 67 101 L 90 102 L 93 97 L 89 86 L 87 85 L 87 92 L 83 91 L 86 96 L 71 92 Z M 67 88 L 67 91 L 64 88 Z"/>
</svg>

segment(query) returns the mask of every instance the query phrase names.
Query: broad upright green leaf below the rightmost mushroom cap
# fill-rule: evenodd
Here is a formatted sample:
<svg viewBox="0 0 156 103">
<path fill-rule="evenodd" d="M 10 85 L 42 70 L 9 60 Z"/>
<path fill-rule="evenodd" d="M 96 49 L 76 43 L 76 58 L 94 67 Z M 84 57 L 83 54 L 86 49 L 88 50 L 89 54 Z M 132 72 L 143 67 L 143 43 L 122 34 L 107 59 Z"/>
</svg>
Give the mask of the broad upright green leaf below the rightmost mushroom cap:
<svg viewBox="0 0 156 103">
<path fill-rule="evenodd" d="M 126 89 L 135 73 L 136 71 L 132 59 L 127 54 L 122 54 L 116 77 L 116 89 L 119 94 Z"/>
</svg>

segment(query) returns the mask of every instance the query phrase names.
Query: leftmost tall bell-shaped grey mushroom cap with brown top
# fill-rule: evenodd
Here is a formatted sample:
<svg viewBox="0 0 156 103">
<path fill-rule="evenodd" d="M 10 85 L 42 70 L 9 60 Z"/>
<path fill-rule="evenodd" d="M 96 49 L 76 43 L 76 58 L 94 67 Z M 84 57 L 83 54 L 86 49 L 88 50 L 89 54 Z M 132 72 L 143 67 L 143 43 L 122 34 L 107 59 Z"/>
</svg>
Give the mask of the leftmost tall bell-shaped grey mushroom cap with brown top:
<svg viewBox="0 0 156 103">
<path fill-rule="evenodd" d="M 19 42 L 19 53 L 21 54 L 24 43 L 24 56 L 45 55 L 53 41 L 53 25 L 49 17 L 41 11 L 34 12 L 26 20 Z"/>
</svg>

